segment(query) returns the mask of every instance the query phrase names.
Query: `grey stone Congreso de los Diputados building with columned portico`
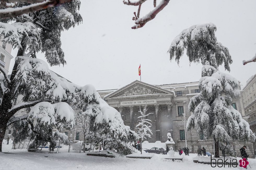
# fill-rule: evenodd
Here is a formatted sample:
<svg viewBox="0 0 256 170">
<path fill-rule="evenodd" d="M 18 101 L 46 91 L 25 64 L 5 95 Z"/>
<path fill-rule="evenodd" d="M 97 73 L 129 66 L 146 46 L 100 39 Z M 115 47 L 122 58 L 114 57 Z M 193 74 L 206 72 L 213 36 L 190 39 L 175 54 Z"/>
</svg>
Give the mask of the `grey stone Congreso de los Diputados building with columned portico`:
<svg viewBox="0 0 256 170">
<path fill-rule="evenodd" d="M 98 90 L 98 93 L 110 106 L 120 112 L 124 124 L 135 131 L 135 127 L 138 124 L 138 116 L 140 116 L 139 108 L 143 109 L 147 105 L 147 113 L 154 113 L 148 116 L 148 119 L 152 121 L 151 130 L 153 135 L 147 140 L 149 142 L 166 142 L 167 133 L 171 133 L 175 142 L 174 149 L 178 149 L 185 147 L 184 115 L 186 123 L 186 119 L 192 114 L 188 109 L 190 98 L 200 93 L 198 84 L 199 82 L 197 81 L 151 85 L 136 80 L 120 89 Z M 246 120 L 242 101 L 233 100 L 232 105 Z M 73 136 L 72 139 L 83 140 L 82 134 L 77 131 L 66 132 L 66 135 Z M 208 152 L 213 153 L 213 141 L 204 141 L 203 135 L 197 135 L 195 129 L 186 131 L 186 139 L 190 152 L 196 153 L 198 147 L 205 147 Z M 240 154 L 239 149 L 243 145 L 243 143 L 235 141 L 232 143 L 238 154 Z M 246 143 L 246 146 L 248 155 L 254 155 L 252 143 Z"/>
</svg>

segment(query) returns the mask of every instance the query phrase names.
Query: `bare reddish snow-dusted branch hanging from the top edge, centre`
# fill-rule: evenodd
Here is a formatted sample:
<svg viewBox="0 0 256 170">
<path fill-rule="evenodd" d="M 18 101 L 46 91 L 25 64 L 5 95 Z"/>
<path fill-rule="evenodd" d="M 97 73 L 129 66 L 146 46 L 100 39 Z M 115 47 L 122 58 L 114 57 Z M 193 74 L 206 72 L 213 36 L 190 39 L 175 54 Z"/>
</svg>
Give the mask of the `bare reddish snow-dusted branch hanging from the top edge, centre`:
<svg viewBox="0 0 256 170">
<path fill-rule="evenodd" d="M 153 1 L 155 9 L 150 11 L 147 15 L 145 15 L 142 18 L 139 18 L 140 10 L 141 10 L 141 5 L 146 2 L 147 0 L 139 0 L 136 2 L 130 2 L 130 0 L 124 0 L 123 3 L 125 5 L 132 5 L 132 6 L 139 6 L 138 7 L 138 12 L 136 15 L 136 12 L 133 12 L 135 15 L 132 20 L 135 21 L 135 26 L 132 27 L 132 29 L 138 29 L 143 27 L 148 21 L 153 20 L 155 16 L 162 10 L 164 7 L 169 3 L 170 0 L 161 0 L 159 5 L 156 6 L 156 0 Z"/>
</svg>

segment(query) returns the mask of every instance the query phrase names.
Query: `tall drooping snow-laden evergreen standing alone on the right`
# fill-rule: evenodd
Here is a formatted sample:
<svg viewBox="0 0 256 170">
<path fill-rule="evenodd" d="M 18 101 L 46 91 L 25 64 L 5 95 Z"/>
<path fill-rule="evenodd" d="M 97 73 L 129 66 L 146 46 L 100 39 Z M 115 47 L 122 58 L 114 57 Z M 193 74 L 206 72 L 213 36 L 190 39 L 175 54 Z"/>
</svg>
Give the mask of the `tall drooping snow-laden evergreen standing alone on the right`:
<svg viewBox="0 0 256 170">
<path fill-rule="evenodd" d="M 213 138 L 215 157 L 219 157 L 219 143 L 226 152 L 236 155 L 231 149 L 230 139 L 241 142 L 255 141 L 255 135 L 241 114 L 232 107 L 232 99 L 240 98 L 238 80 L 227 73 L 232 63 L 227 47 L 217 40 L 213 24 L 198 24 L 183 30 L 171 43 L 170 60 L 179 59 L 187 50 L 190 62 L 201 62 L 202 78 L 199 80 L 200 94 L 191 98 L 189 110 L 193 114 L 187 122 L 187 130 L 196 128 L 198 135 L 206 140 Z"/>
</svg>

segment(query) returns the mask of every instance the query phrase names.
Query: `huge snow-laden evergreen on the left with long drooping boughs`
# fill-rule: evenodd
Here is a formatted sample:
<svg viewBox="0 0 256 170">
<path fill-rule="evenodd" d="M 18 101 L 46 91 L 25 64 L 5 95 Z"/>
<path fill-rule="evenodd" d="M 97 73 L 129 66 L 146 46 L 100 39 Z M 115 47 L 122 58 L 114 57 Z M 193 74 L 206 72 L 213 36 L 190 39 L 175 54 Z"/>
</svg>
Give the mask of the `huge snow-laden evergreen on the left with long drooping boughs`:
<svg viewBox="0 0 256 170">
<path fill-rule="evenodd" d="M 15 5 L 24 7 L 29 4 L 18 2 Z M 80 1 L 73 0 L 57 7 L 0 19 L 0 36 L 3 42 L 19 49 L 10 78 L 0 66 L 0 72 L 3 73 L 0 75 L 0 152 L 7 125 L 15 123 L 20 129 L 18 132 L 26 132 L 15 134 L 17 139 L 29 135 L 38 141 L 34 144 L 35 147 L 40 143 L 53 141 L 50 138 L 56 136 L 56 133 L 53 134 L 51 129 L 72 128 L 73 126 L 67 125 L 74 122 L 73 119 L 71 121 L 73 109 L 67 109 L 69 114 L 62 113 L 65 118 L 55 117 L 60 110 L 55 107 L 57 102 L 66 102 L 75 110 L 88 114 L 91 120 L 89 130 L 100 134 L 103 143 L 112 141 L 127 146 L 126 142 L 136 138 L 136 134 L 124 125 L 120 113 L 108 106 L 92 85 L 78 86 L 69 83 L 51 72 L 44 61 L 36 59 L 36 53 L 41 50 L 45 52 L 51 66 L 66 63 L 60 35 L 63 30 L 82 22 L 79 8 Z M 16 102 L 18 96 L 22 98 L 21 103 Z M 49 104 L 46 105 L 45 102 Z M 17 111 L 30 107 L 31 112 L 27 116 L 14 116 Z M 34 118 L 42 116 L 44 118 L 33 125 Z"/>
</svg>

